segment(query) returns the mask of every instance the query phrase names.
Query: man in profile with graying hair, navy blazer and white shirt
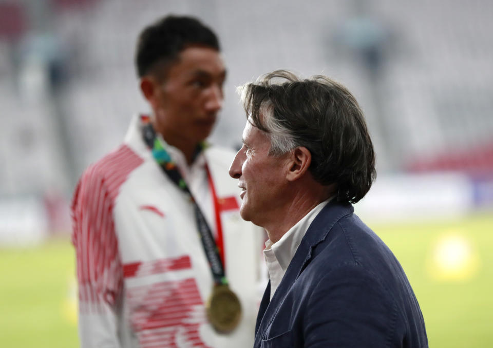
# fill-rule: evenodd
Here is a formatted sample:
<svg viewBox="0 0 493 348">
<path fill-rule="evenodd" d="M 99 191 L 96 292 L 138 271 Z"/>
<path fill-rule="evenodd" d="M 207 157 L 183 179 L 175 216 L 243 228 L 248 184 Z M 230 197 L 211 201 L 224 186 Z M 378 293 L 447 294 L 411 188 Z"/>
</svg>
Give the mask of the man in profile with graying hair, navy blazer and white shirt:
<svg viewBox="0 0 493 348">
<path fill-rule="evenodd" d="M 354 96 L 283 70 L 240 91 L 248 120 L 230 175 L 242 218 L 269 236 L 254 346 L 427 347 L 399 261 L 353 214 L 375 177 Z"/>
</svg>

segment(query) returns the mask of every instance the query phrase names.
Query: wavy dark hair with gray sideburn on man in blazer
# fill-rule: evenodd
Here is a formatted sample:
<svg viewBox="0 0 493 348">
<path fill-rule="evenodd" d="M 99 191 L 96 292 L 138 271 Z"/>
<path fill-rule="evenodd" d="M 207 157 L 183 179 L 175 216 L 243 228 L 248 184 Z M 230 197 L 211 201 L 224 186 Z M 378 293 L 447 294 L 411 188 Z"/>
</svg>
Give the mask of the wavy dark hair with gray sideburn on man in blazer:
<svg viewBox="0 0 493 348">
<path fill-rule="evenodd" d="M 336 184 L 339 201 L 366 195 L 376 176 L 375 154 L 363 111 L 346 87 L 323 75 L 303 80 L 276 70 L 237 92 L 248 122 L 269 136 L 269 154 L 304 146 L 313 178 Z"/>
</svg>

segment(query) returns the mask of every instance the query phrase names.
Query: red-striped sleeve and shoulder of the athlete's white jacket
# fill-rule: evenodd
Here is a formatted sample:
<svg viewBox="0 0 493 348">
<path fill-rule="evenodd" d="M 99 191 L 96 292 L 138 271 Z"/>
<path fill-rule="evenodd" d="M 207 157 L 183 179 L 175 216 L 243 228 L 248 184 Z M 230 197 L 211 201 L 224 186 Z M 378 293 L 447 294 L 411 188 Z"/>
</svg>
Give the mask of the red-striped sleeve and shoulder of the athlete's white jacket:
<svg viewBox="0 0 493 348">
<path fill-rule="evenodd" d="M 128 146 L 108 154 L 83 174 L 72 200 L 72 243 L 81 302 L 114 304 L 123 268 L 113 222 L 120 186 L 143 160 Z"/>
</svg>

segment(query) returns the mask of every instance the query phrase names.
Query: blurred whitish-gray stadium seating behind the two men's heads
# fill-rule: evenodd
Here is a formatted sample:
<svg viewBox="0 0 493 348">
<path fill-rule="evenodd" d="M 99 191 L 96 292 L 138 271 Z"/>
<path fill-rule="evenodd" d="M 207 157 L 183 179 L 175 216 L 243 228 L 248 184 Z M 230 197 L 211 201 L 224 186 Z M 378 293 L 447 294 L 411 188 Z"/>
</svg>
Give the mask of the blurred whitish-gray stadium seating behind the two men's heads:
<svg viewBox="0 0 493 348">
<path fill-rule="evenodd" d="M 376 78 L 335 40 L 357 11 L 388 37 Z M 229 72 L 215 143 L 234 147 L 240 141 L 245 118 L 235 87 L 277 68 L 322 73 L 347 85 L 366 112 L 381 172 L 493 141 L 488 0 L 93 0 L 54 10 L 45 23 L 69 73 L 55 101 L 46 90 L 47 55 L 34 49 L 21 54 L 19 47 L 33 46 L 0 42 L 8 53 L 0 55 L 0 195 L 53 186 L 69 194 L 82 170 L 118 145 L 131 115 L 148 111 L 133 65 L 136 37 L 167 13 L 198 16 L 220 36 Z M 60 110 L 65 129 L 57 130 L 53 114 Z"/>
</svg>

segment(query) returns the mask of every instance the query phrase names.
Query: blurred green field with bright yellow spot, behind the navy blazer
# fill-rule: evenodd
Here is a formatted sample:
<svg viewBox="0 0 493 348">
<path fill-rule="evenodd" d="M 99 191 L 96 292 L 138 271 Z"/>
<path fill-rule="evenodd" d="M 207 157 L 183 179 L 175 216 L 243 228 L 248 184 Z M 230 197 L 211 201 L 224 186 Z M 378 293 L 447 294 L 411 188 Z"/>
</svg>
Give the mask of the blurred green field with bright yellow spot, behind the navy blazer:
<svg viewBox="0 0 493 348">
<path fill-rule="evenodd" d="M 371 227 L 406 271 L 421 305 L 430 347 L 491 346 L 493 214 L 453 222 Z M 451 241 L 451 255 L 441 259 L 448 260 L 448 267 L 435 261 L 437 251 L 443 256 L 447 241 Z M 467 244 L 461 247 L 458 241 Z"/>
</svg>

